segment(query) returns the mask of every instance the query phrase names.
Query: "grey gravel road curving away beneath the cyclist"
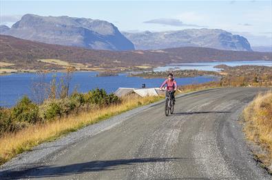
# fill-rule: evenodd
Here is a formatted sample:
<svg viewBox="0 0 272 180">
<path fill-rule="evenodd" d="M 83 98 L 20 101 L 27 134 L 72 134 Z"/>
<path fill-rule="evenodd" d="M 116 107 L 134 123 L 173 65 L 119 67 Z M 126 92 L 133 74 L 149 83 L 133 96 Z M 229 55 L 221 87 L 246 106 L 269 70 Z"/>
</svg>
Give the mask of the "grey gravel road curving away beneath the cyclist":
<svg viewBox="0 0 272 180">
<path fill-rule="evenodd" d="M 179 95 L 169 117 L 163 101 L 123 113 L 19 155 L 0 179 L 271 179 L 239 123 L 244 106 L 266 90 Z"/>
</svg>

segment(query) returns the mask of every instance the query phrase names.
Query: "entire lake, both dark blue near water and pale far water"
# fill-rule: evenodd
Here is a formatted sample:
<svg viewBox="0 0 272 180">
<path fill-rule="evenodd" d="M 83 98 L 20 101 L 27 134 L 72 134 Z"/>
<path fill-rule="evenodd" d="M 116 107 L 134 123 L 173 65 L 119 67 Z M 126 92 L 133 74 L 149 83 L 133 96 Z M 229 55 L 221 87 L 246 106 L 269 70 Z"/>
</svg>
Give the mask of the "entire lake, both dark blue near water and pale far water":
<svg viewBox="0 0 272 180">
<path fill-rule="evenodd" d="M 233 62 L 211 62 L 211 63 L 180 63 L 171 64 L 165 67 L 158 67 L 154 71 L 165 71 L 169 68 L 173 69 L 198 69 L 207 71 L 218 71 L 215 69 L 215 65 L 265 65 L 272 66 L 271 61 L 233 61 Z M 178 70 L 178 69 L 177 69 Z M 96 77 L 98 72 L 75 72 L 72 78 L 70 90 L 77 87 L 79 92 L 87 92 L 90 89 L 104 88 L 108 93 L 112 93 L 118 89 L 118 87 L 142 87 L 145 84 L 146 87 L 159 87 L 163 82 L 163 78 L 145 79 L 139 77 L 127 77 L 127 74 L 118 74 L 118 76 L 105 76 Z M 52 76 L 56 76 L 59 79 L 64 74 L 61 72 L 46 74 L 45 82 L 50 82 Z M 0 106 L 13 106 L 17 100 L 23 95 L 32 97 L 32 84 L 39 82 L 41 76 L 37 74 L 11 74 L 7 76 L 0 76 Z M 217 80 L 211 76 L 199 76 L 194 78 L 176 78 L 178 85 L 198 84 L 202 82 L 209 82 Z"/>
</svg>

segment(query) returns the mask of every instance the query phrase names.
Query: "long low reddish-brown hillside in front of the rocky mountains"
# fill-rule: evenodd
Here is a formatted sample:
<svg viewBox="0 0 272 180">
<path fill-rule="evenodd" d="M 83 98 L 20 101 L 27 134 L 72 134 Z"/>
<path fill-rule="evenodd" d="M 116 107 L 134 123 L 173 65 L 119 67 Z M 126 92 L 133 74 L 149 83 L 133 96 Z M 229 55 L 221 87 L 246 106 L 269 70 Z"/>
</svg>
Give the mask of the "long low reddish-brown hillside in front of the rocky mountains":
<svg viewBox="0 0 272 180">
<path fill-rule="evenodd" d="M 59 59 L 86 67 L 123 68 L 138 65 L 159 66 L 168 63 L 196 63 L 231 60 L 272 60 L 272 53 L 233 52 L 203 47 L 179 47 L 160 50 L 114 52 L 63 45 L 50 45 L 0 35 L 0 62 L 24 69 L 58 69 L 38 59 Z"/>
</svg>

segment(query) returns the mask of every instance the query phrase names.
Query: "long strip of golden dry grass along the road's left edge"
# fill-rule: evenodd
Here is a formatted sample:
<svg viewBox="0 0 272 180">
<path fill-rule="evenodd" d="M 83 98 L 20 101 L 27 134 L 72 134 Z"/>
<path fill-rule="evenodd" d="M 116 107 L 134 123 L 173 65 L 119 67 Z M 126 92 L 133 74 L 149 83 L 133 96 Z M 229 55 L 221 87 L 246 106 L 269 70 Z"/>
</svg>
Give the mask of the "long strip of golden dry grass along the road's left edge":
<svg viewBox="0 0 272 180">
<path fill-rule="evenodd" d="M 123 113 L 137 106 L 149 104 L 162 97 L 149 96 L 139 98 L 137 96 L 127 97 L 120 104 L 107 106 L 101 109 L 92 109 L 79 115 L 63 117 L 43 124 L 36 124 L 24 128 L 18 133 L 6 133 L 0 137 L 0 164 L 12 159 L 19 153 L 31 150 L 34 146 L 43 142 L 52 141 L 69 132 L 76 131 L 89 124 L 105 120 L 113 115 Z"/>
</svg>

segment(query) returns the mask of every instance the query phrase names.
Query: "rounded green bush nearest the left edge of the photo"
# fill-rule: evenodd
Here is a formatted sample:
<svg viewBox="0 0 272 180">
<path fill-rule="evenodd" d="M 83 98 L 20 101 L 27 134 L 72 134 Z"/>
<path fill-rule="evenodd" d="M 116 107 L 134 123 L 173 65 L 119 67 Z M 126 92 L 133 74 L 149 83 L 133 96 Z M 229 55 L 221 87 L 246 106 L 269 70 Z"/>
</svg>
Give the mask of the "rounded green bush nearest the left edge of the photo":
<svg viewBox="0 0 272 180">
<path fill-rule="evenodd" d="M 12 108 L 11 119 L 12 121 L 17 122 L 36 123 L 40 120 L 39 106 L 32 103 L 27 96 L 23 96 L 23 98 Z"/>
</svg>

